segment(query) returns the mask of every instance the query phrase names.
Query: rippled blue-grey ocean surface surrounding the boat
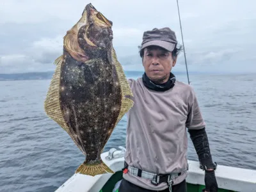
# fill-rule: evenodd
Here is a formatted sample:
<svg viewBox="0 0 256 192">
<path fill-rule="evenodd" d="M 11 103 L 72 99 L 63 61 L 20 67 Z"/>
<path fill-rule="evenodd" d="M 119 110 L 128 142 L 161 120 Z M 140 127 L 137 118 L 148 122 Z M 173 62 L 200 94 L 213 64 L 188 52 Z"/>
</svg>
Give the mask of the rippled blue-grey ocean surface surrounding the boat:
<svg viewBox="0 0 256 192">
<path fill-rule="evenodd" d="M 129 78 L 139 75 L 129 74 Z M 256 170 L 256 78 L 190 75 L 214 161 Z M 187 83 L 185 75 L 177 79 Z M 51 80 L 0 81 L 0 191 L 54 191 L 84 161 L 68 134 L 45 115 Z M 125 146 L 126 116 L 104 149 Z M 198 160 L 189 138 L 188 158 Z"/>
</svg>

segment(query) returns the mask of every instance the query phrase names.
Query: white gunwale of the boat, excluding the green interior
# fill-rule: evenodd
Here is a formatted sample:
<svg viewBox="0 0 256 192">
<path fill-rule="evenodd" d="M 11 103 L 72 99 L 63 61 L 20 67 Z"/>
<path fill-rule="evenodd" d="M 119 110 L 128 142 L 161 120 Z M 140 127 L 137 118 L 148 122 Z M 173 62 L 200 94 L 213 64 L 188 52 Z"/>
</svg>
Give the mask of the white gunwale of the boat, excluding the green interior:
<svg viewBox="0 0 256 192">
<path fill-rule="evenodd" d="M 115 151 L 118 156 L 121 151 Z M 114 172 L 122 170 L 124 167 L 124 156 L 106 159 L 109 156 L 109 151 L 101 154 L 102 161 L 106 163 Z M 189 184 L 198 184 L 204 186 L 204 170 L 199 167 L 198 161 L 188 160 L 189 171 L 186 177 L 186 182 Z M 113 174 L 90 175 L 74 174 L 63 185 L 60 186 L 57 192 L 67 192 L 72 189 L 74 192 L 90 191 L 99 192 L 100 189 L 108 182 L 108 179 Z M 216 180 L 220 189 L 255 192 L 256 191 L 256 170 L 246 168 L 238 168 L 234 166 L 218 165 L 215 171 Z"/>
</svg>

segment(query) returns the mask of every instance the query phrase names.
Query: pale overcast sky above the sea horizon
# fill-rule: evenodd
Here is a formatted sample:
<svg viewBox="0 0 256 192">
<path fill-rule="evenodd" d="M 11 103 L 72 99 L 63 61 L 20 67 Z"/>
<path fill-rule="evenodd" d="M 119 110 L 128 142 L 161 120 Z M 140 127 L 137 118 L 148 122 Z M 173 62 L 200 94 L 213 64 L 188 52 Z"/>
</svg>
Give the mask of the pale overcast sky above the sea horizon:
<svg viewBox="0 0 256 192">
<path fill-rule="evenodd" d="M 88 3 L 113 22 L 120 58 L 138 55 L 143 31 L 154 27 L 170 27 L 182 43 L 176 0 L 1 0 L 0 73 L 54 70 L 63 36 Z M 254 0 L 179 0 L 188 70 L 255 72 L 255 7 Z M 123 66 L 143 70 L 139 62 Z M 175 69 L 186 70 L 183 53 Z"/>
</svg>

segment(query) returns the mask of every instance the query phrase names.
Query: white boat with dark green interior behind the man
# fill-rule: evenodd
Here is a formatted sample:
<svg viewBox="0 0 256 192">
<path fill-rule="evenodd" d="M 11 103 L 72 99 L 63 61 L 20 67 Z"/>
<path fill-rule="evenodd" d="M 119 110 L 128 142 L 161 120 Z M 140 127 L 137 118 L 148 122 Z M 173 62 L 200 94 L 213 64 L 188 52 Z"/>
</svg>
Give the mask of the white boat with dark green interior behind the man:
<svg viewBox="0 0 256 192">
<path fill-rule="evenodd" d="M 118 192 L 118 189 L 113 189 L 122 179 L 125 148 L 120 146 L 118 149 L 111 148 L 100 155 L 102 161 L 115 172 L 114 174 L 94 177 L 74 174 L 56 189 L 56 192 Z M 189 170 L 186 178 L 188 192 L 201 192 L 205 188 L 204 170 L 200 168 L 198 161 L 188 160 L 188 163 Z M 218 165 L 216 179 L 219 192 L 256 192 L 256 170 Z"/>
</svg>

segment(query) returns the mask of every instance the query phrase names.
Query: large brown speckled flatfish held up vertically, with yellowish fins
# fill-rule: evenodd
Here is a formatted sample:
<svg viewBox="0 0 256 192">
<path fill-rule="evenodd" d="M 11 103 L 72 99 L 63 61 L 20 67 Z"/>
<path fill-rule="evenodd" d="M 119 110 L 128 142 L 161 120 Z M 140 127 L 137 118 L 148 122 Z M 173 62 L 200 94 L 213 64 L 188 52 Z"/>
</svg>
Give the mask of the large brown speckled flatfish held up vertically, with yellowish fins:
<svg viewBox="0 0 256 192">
<path fill-rule="evenodd" d="M 63 38 L 63 54 L 45 98 L 45 113 L 85 155 L 76 173 L 114 173 L 102 159 L 116 124 L 133 106 L 132 91 L 113 48 L 113 23 L 90 3 Z M 63 141 L 65 142 L 65 141 Z"/>
</svg>

